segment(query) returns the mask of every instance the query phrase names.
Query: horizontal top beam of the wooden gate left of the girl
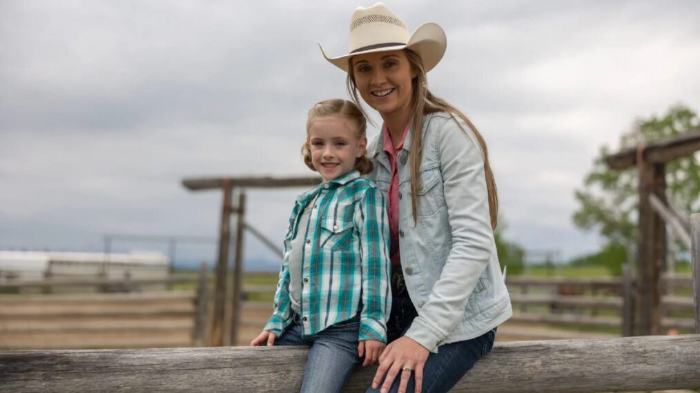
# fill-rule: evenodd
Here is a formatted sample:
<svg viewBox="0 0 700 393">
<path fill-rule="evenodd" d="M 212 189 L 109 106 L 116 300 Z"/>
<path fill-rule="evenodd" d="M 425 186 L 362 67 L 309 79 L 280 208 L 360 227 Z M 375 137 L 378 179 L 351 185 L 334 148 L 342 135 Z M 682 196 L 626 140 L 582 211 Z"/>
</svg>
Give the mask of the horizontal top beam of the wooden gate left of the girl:
<svg viewBox="0 0 700 393">
<path fill-rule="evenodd" d="M 182 185 L 191 191 L 214 190 L 229 187 L 243 188 L 279 188 L 279 187 L 314 187 L 321 183 L 320 176 L 296 176 L 279 178 L 274 176 L 242 177 L 242 178 L 187 178 Z"/>
</svg>

